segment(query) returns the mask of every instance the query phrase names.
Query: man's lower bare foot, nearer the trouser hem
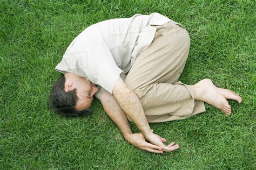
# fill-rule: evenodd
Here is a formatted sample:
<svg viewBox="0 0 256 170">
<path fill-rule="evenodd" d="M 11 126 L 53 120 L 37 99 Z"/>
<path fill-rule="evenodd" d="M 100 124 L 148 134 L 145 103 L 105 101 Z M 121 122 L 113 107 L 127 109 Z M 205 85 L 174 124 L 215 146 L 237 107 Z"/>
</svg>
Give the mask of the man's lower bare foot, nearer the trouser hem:
<svg viewBox="0 0 256 170">
<path fill-rule="evenodd" d="M 214 107 L 220 109 L 224 114 L 231 114 L 231 107 L 228 104 L 226 98 L 222 95 L 225 94 L 227 98 L 233 99 L 233 94 L 230 91 L 219 90 L 215 87 L 210 79 L 203 79 L 193 85 L 196 90 L 195 100 L 203 101 Z M 236 98 L 239 100 L 238 98 Z"/>
</svg>

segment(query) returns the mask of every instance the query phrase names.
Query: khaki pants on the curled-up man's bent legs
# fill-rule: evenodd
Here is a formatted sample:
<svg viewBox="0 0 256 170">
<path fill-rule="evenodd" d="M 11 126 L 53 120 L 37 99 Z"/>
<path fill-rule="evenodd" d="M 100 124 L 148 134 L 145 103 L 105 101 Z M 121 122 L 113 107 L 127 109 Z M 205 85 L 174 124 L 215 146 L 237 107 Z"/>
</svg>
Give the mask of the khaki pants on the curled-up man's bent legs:
<svg viewBox="0 0 256 170">
<path fill-rule="evenodd" d="M 194 100 L 193 87 L 178 82 L 190 49 L 187 31 L 174 22 L 154 27 L 151 45 L 138 56 L 125 79 L 142 102 L 147 122 L 174 121 L 204 112 L 204 102 Z"/>
</svg>

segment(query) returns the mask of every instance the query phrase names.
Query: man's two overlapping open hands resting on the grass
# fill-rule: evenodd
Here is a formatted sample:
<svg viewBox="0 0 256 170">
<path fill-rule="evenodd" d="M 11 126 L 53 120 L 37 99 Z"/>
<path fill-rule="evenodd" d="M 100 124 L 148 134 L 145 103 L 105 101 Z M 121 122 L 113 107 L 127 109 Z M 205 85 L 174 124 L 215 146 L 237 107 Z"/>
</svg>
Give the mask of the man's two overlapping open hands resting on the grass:
<svg viewBox="0 0 256 170">
<path fill-rule="evenodd" d="M 164 151 L 171 152 L 179 148 L 179 145 L 175 144 L 174 142 L 167 146 L 164 145 L 167 140 L 165 138 L 161 138 L 158 134 L 153 133 L 153 130 L 151 131 L 152 133 L 146 135 L 146 139 L 142 133 L 132 133 L 126 140 L 130 144 L 142 150 L 154 153 L 163 153 Z M 151 143 L 148 143 L 146 140 L 150 141 Z"/>
</svg>

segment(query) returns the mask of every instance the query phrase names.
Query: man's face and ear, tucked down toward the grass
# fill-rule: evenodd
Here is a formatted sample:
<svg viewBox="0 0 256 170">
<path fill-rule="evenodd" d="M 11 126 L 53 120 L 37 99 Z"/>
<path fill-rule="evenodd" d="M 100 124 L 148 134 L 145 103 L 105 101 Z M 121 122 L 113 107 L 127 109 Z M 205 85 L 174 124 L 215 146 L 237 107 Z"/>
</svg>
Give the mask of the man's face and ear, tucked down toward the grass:
<svg viewBox="0 0 256 170">
<path fill-rule="evenodd" d="M 68 79 L 66 79 L 65 88 L 68 89 L 77 89 L 76 94 L 78 97 L 78 101 L 76 104 L 76 110 L 82 111 L 91 106 L 93 95 L 95 95 L 98 91 L 98 88 L 95 84 L 87 81 L 84 77 L 79 77 L 76 75 L 69 75 Z"/>
</svg>

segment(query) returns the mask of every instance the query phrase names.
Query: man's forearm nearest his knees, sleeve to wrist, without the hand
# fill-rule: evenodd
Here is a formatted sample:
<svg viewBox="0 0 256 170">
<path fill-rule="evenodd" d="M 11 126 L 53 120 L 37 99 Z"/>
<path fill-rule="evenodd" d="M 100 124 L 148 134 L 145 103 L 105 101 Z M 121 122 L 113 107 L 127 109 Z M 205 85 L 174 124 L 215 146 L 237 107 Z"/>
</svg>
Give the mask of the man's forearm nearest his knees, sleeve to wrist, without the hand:
<svg viewBox="0 0 256 170">
<path fill-rule="evenodd" d="M 118 88 L 114 89 L 112 94 L 114 98 L 116 98 L 120 108 L 130 117 L 144 136 L 146 136 L 147 133 L 152 133 L 149 123 L 147 123 L 142 103 L 133 90 L 128 86 L 124 86 L 122 90 Z"/>
</svg>

